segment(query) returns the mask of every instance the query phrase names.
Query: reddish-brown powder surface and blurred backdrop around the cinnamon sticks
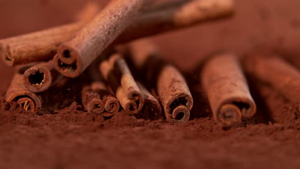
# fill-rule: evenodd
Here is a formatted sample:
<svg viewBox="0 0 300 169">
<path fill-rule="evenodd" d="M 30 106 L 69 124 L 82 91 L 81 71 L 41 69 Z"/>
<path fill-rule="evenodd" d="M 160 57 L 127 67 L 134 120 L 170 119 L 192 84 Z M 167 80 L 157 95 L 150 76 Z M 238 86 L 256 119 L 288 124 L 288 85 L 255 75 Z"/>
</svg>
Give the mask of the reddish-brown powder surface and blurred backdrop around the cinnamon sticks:
<svg viewBox="0 0 300 169">
<path fill-rule="evenodd" d="M 67 23 L 84 1 L 23 3 L 0 2 L 0 38 Z M 299 6 L 297 0 L 236 0 L 232 19 L 154 38 L 191 87 L 194 108 L 186 124 L 146 121 L 123 112 L 111 119 L 87 114 L 76 80 L 43 93 L 40 115 L 24 112 L 4 101 L 13 69 L 0 63 L 0 168 L 299 168 L 300 120 L 287 99 L 249 79 L 257 115 L 222 130 L 193 71 L 220 49 L 244 54 L 283 48 L 299 55 Z"/>
</svg>

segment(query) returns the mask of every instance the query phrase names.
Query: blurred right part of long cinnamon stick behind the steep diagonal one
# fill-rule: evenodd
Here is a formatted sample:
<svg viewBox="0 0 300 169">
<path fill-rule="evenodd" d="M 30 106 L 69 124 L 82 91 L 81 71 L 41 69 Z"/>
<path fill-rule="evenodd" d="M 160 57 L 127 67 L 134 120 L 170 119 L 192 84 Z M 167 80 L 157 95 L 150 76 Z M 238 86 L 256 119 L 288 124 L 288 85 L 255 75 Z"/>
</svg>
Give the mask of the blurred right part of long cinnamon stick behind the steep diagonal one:
<svg viewBox="0 0 300 169">
<path fill-rule="evenodd" d="M 159 4 L 138 17 L 113 44 L 224 18 L 233 13 L 233 5 L 233 0 L 182 0 Z"/>
</svg>

